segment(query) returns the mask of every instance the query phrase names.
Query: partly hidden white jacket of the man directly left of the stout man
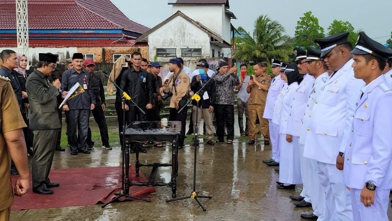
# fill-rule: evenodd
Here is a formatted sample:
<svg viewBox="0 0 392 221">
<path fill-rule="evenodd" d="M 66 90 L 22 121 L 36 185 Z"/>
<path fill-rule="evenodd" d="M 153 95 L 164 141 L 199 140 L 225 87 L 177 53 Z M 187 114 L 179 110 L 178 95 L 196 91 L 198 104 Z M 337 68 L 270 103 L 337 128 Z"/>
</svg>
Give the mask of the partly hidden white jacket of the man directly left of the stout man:
<svg viewBox="0 0 392 221">
<path fill-rule="evenodd" d="M 319 96 L 319 94 L 321 92 L 321 88 L 324 85 L 324 83 L 328 80 L 328 78 L 329 78 L 328 72 L 324 72 L 323 74 L 321 74 L 319 77 L 317 77 L 315 79 L 315 84 L 313 85 L 312 91 L 311 91 L 310 95 L 308 96 L 308 103 L 306 105 L 304 116 L 309 116 L 309 114 L 313 114 L 313 106 L 316 103 L 319 103 L 319 101 L 317 101 L 316 98 Z M 302 145 L 305 144 L 306 136 L 308 134 L 310 119 L 311 118 L 309 118 L 309 117 L 303 118 L 302 127 L 301 127 L 301 131 L 300 131 L 300 136 L 299 136 L 299 143 Z M 309 128 L 309 130 L 310 130 L 310 128 Z M 317 152 L 316 146 L 308 146 L 308 147 L 305 147 L 303 155 L 304 155 L 304 157 L 309 158 L 309 156 L 316 154 L 316 152 Z"/>
</svg>

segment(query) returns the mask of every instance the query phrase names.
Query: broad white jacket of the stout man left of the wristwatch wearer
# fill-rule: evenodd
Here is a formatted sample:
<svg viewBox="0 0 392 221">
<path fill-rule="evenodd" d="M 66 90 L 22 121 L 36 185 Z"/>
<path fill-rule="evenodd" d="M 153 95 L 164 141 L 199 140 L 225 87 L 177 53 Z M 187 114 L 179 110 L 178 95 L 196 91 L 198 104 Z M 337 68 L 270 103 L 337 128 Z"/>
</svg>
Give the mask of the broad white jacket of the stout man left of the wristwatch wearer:
<svg viewBox="0 0 392 221">
<path fill-rule="evenodd" d="M 310 158 L 321 163 L 336 164 L 336 156 L 344 151 L 350 135 L 355 102 L 365 85 L 354 78 L 352 63 L 350 59 L 331 75 L 321 88 L 313 113 L 305 116 L 310 118 L 305 146 L 317 148 Z"/>
</svg>

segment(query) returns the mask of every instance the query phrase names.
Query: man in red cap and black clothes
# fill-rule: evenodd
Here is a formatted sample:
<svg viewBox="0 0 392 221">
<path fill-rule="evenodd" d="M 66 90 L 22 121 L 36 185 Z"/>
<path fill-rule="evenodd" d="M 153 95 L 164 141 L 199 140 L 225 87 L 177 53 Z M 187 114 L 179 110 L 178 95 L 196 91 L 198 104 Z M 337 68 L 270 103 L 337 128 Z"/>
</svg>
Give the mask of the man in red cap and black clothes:
<svg viewBox="0 0 392 221">
<path fill-rule="evenodd" d="M 107 125 L 105 120 L 105 114 L 103 111 L 106 109 L 105 103 L 105 91 L 103 89 L 103 83 L 101 78 L 95 74 L 95 63 L 93 59 L 86 59 L 84 61 L 84 66 L 87 72 L 90 73 L 91 81 L 90 81 L 90 88 L 93 90 L 95 95 L 95 109 L 91 111 L 94 116 L 95 122 L 97 122 L 99 127 L 99 133 L 101 135 L 102 141 L 102 148 L 111 150 L 112 147 L 109 145 L 109 134 L 107 131 Z M 91 140 L 91 129 L 89 128 L 87 133 L 87 149 L 94 148 L 94 141 Z"/>
</svg>

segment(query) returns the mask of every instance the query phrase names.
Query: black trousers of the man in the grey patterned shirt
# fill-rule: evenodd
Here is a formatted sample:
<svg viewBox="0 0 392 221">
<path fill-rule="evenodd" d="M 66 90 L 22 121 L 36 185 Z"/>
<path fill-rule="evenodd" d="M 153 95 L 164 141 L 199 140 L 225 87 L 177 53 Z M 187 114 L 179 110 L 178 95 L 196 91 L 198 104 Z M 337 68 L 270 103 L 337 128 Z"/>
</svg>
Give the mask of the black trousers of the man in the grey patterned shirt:
<svg viewBox="0 0 392 221">
<path fill-rule="evenodd" d="M 234 105 L 215 105 L 218 140 L 224 140 L 224 122 L 226 122 L 227 140 L 234 139 Z"/>
</svg>

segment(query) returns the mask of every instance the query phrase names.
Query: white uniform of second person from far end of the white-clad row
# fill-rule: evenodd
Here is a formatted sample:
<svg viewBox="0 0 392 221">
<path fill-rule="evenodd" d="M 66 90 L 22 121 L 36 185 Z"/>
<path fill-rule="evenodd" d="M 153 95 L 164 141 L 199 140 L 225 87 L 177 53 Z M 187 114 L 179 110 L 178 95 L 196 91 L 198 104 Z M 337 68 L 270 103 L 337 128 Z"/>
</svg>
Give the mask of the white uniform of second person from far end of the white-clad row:
<svg viewBox="0 0 392 221">
<path fill-rule="evenodd" d="M 273 114 L 272 114 L 272 126 L 274 127 L 274 132 L 277 131 L 277 140 L 276 140 L 276 145 L 273 146 L 272 149 L 272 159 L 275 162 L 280 161 L 280 151 L 279 151 L 279 124 L 280 124 L 280 111 L 282 110 L 282 102 L 283 102 L 283 96 L 287 92 L 289 85 L 287 83 L 284 83 L 283 88 L 280 90 L 278 97 L 276 98 L 275 104 L 273 106 Z M 270 134 L 271 136 L 271 134 Z M 276 135 L 274 135 L 276 137 Z"/>
</svg>

